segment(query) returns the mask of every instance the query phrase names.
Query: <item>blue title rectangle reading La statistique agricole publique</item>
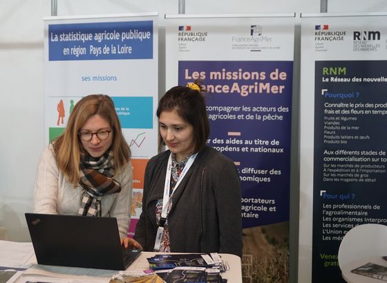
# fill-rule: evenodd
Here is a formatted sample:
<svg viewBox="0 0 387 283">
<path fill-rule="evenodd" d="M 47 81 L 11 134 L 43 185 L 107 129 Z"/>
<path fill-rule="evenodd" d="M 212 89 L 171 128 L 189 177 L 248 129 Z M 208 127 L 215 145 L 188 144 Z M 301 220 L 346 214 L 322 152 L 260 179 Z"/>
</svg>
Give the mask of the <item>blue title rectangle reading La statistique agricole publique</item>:
<svg viewBox="0 0 387 283">
<path fill-rule="evenodd" d="M 153 21 L 48 25 L 48 60 L 153 59 Z"/>
</svg>

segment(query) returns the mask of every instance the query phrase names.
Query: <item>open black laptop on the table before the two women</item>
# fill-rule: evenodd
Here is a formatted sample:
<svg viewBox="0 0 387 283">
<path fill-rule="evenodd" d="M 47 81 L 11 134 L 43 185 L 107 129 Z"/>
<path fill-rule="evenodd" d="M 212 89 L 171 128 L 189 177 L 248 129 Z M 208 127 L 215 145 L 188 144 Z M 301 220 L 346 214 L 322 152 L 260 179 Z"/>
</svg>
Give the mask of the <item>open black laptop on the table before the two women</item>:
<svg viewBox="0 0 387 283">
<path fill-rule="evenodd" d="M 121 245 L 113 217 L 25 215 L 38 264 L 123 271 L 141 253 Z"/>
</svg>

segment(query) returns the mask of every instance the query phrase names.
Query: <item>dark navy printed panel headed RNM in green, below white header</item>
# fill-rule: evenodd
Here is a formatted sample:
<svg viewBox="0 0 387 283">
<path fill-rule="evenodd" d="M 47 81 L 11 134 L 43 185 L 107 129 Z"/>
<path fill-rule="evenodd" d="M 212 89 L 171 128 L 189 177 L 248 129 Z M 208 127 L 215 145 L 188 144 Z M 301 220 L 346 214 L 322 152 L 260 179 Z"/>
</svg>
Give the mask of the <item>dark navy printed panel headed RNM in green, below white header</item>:
<svg viewBox="0 0 387 283">
<path fill-rule="evenodd" d="M 316 61 L 312 282 L 344 282 L 341 240 L 386 225 L 387 61 Z"/>
</svg>

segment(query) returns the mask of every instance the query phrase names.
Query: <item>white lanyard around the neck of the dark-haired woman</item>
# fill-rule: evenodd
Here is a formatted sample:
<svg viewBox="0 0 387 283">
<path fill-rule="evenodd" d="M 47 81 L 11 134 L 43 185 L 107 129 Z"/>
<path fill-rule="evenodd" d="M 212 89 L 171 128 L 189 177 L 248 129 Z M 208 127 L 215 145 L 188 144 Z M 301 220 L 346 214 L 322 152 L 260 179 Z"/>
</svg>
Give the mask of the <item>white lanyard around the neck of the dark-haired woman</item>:
<svg viewBox="0 0 387 283">
<path fill-rule="evenodd" d="M 185 167 L 183 168 L 182 172 L 180 173 L 180 176 L 178 178 L 178 181 L 176 182 L 175 187 L 172 190 L 171 195 L 169 195 L 169 192 L 171 191 L 171 172 L 172 172 L 172 153 L 169 154 L 168 159 L 168 165 L 167 165 L 167 173 L 165 174 L 165 183 L 164 183 L 164 195 L 162 197 L 162 211 L 161 211 L 161 217 L 158 224 L 158 231 L 156 233 L 156 239 L 155 239 L 155 246 L 153 250 L 159 251 L 160 250 L 160 243 L 162 238 L 162 232 L 164 232 L 164 224 L 165 221 L 167 221 L 168 216 L 168 205 L 169 201 L 172 199 L 173 193 L 176 192 L 176 189 L 178 188 L 178 185 L 180 185 L 182 179 L 187 174 L 189 168 L 193 164 L 193 161 L 195 161 L 195 158 L 198 154 L 192 154 Z"/>
</svg>

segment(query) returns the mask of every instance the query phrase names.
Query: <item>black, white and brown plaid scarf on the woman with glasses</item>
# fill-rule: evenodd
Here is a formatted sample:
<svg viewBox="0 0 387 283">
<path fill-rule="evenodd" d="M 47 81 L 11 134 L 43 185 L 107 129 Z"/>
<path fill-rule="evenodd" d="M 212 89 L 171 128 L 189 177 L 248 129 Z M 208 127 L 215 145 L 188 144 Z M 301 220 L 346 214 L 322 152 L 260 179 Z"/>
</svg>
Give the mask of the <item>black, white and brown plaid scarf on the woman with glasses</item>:
<svg viewBox="0 0 387 283">
<path fill-rule="evenodd" d="M 121 184 L 112 178 L 113 174 L 113 153 L 110 150 L 98 158 L 81 154 L 79 185 L 84 188 L 84 193 L 78 214 L 102 215 L 101 198 L 105 194 L 121 192 Z"/>
</svg>

